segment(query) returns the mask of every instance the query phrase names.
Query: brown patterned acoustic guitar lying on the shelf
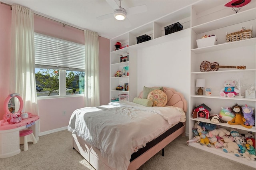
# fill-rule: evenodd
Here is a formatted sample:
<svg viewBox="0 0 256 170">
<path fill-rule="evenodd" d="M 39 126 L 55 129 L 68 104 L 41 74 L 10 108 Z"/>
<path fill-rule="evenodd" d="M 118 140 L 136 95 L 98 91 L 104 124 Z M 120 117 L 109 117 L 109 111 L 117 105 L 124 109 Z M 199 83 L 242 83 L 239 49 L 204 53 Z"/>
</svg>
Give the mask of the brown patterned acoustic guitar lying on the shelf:
<svg viewBox="0 0 256 170">
<path fill-rule="evenodd" d="M 218 71 L 219 68 L 226 69 L 246 69 L 246 66 L 220 66 L 219 63 L 210 63 L 209 61 L 203 61 L 200 65 L 200 71 Z"/>
</svg>

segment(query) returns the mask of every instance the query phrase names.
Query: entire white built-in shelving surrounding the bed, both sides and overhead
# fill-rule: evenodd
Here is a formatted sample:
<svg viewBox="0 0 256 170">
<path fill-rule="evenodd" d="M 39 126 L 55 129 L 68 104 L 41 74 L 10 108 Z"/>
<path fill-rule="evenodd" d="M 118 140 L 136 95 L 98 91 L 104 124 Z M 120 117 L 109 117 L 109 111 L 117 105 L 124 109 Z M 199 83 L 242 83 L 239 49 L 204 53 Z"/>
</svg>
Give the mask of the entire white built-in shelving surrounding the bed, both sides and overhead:
<svg viewBox="0 0 256 170">
<path fill-rule="evenodd" d="M 228 1 L 227 1 L 228 2 Z M 126 93 L 129 95 L 129 101 L 137 97 L 137 50 L 161 43 L 166 43 L 181 39 L 187 36 L 191 37 L 190 50 L 190 99 L 189 114 L 189 137 L 193 138 L 192 128 L 196 121 L 212 123 L 206 119 L 193 119 L 192 111 L 198 105 L 204 103 L 210 107 L 211 113 L 219 113 L 221 107 L 231 107 L 238 103 L 256 107 L 256 99 L 248 99 L 241 97 L 220 97 L 220 89 L 224 88 L 226 80 L 240 80 L 246 84 L 242 87 L 241 93 L 245 93 L 245 89 L 256 85 L 256 2 L 251 1 L 244 6 L 237 14 L 228 7 L 224 7 L 227 3 L 217 0 L 202 0 L 190 6 L 186 6 L 180 10 L 172 12 L 162 18 L 154 20 L 148 24 L 140 26 L 130 32 L 117 36 L 110 40 L 110 100 L 118 94 Z M 207 7 L 207 8 L 205 8 Z M 165 35 L 164 27 L 180 22 L 183 30 L 172 34 Z M 253 38 L 241 40 L 237 42 L 225 43 L 226 34 L 236 32 L 242 27 L 246 29 L 252 28 Z M 137 44 L 136 37 L 147 34 L 151 37 L 150 41 Z M 205 34 L 216 35 L 217 45 L 198 48 L 196 40 L 202 38 Z M 129 47 L 115 50 L 115 43 L 120 42 L 122 46 Z M 120 63 L 119 55 L 129 53 L 129 61 Z M 246 69 L 219 69 L 218 71 L 201 72 L 200 63 L 202 61 L 218 62 L 219 65 L 246 65 Z M 124 66 L 129 66 L 129 76 L 115 77 L 116 71 L 122 70 Z M 212 95 L 196 95 L 196 79 L 205 79 L 206 87 L 212 89 Z M 129 83 L 129 91 L 116 91 L 118 85 Z M 213 123 L 214 124 L 214 123 Z M 229 125 L 227 123 L 218 123 L 219 127 L 237 128 L 241 133 L 252 132 L 256 136 L 256 128 L 244 128 L 240 125 Z M 219 156 L 229 158 L 231 160 L 256 167 L 256 161 L 246 160 L 242 157 L 236 157 L 232 153 L 225 153 L 221 148 L 201 146 L 199 143 L 191 143 L 191 146 L 212 152 Z"/>
</svg>

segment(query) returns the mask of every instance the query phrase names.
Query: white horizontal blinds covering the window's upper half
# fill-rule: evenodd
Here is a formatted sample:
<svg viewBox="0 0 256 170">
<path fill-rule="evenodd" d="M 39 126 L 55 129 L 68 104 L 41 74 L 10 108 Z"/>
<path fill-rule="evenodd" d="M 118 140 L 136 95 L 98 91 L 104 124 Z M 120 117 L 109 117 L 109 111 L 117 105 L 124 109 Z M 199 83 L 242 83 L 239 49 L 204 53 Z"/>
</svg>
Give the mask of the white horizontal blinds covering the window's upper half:
<svg viewBox="0 0 256 170">
<path fill-rule="evenodd" d="M 36 68 L 84 71 L 85 45 L 35 33 Z"/>
</svg>

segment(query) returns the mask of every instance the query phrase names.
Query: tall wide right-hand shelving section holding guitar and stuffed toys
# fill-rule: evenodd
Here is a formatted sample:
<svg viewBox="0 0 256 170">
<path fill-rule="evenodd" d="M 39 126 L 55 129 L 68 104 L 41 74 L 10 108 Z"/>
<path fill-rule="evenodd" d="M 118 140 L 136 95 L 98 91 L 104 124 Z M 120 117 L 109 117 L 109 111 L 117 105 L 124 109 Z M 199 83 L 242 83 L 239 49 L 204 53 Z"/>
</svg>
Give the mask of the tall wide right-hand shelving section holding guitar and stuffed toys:
<svg viewBox="0 0 256 170">
<path fill-rule="evenodd" d="M 190 67 L 190 112 L 195 107 L 204 103 L 210 107 L 211 114 L 218 114 L 221 107 L 232 107 L 247 104 L 250 107 L 256 107 L 256 99 L 244 97 L 220 97 L 219 93 L 224 88 L 226 80 L 240 80 L 245 86 L 242 87 L 241 93 L 244 95 L 245 90 L 256 85 L 256 5 L 255 2 L 249 3 L 235 14 L 231 8 L 224 7 L 224 4 L 218 1 L 201 1 L 192 5 L 191 19 L 191 67 Z M 226 2 L 227 3 L 227 2 Z M 202 8 L 204 5 L 208 8 Z M 212 8 L 211 8 L 212 7 Z M 252 39 L 241 40 L 236 42 L 225 43 L 226 34 L 237 32 L 242 27 L 251 29 L 253 32 Z M 217 45 L 198 48 L 196 40 L 204 35 L 216 35 Z M 201 72 L 200 63 L 202 61 L 210 63 L 218 62 L 219 65 L 239 66 L 245 65 L 246 69 L 219 69 L 218 71 Z M 212 95 L 196 95 L 196 79 L 205 79 L 205 87 L 212 89 Z M 210 120 L 192 118 L 190 114 L 190 138 L 194 135 L 191 129 L 196 121 L 212 123 Z M 214 124 L 214 123 L 212 123 Z M 240 133 L 252 132 L 256 136 L 255 126 L 244 128 L 241 125 L 229 125 L 228 123 L 218 123 L 219 127 L 236 128 Z M 212 152 L 219 156 L 256 167 L 256 161 L 246 160 L 237 157 L 233 152 L 225 153 L 222 148 L 202 146 L 199 143 L 191 143 L 191 146 Z"/>
</svg>

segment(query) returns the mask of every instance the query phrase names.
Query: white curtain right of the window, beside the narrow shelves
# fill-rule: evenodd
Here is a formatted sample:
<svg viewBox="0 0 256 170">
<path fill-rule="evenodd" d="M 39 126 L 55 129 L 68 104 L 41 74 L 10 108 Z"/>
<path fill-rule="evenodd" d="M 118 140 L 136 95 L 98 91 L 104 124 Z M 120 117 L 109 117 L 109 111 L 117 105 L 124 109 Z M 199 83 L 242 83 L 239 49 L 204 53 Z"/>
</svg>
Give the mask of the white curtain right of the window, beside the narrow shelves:
<svg viewBox="0 0 256 170">
<path fill-rule="evenodd" d="M 85 107 L 100 105 L 98 33 L 84 30 L 85 39 Z"/>
</svg>

